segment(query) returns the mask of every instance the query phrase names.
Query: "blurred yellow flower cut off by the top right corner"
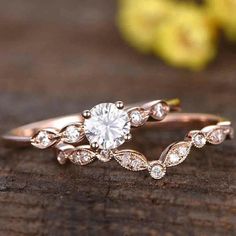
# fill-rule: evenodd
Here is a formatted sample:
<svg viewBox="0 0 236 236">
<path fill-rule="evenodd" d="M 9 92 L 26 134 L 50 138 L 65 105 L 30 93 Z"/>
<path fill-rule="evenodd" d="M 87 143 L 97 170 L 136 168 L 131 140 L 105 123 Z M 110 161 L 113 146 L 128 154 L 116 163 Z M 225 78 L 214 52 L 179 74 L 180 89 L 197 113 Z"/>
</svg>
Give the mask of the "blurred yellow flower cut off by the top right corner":
<svg viewBox="0 0 236 236">
<path fill-rule="evenodd" d="M 207 0 L 209 13 L 230 40 L 236 40 L 236 0 Z"/>
</svg>

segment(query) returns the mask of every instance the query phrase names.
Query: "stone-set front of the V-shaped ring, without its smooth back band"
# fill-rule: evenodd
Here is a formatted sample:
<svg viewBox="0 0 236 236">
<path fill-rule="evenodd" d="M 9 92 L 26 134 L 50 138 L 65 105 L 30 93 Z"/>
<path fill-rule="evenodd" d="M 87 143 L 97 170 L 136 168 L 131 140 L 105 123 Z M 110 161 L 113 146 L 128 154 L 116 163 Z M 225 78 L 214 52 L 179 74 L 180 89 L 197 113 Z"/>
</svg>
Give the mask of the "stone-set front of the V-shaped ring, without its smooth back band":
<svg viewBox="0 0 236 236">
<path fill-rule="evenodd" d="M 110 159 L 106 157 L 106 160 L 109 161 L 113 157 L 125 169 L 148 170 L 152 178 L 161 179 L 166 174 L 167 168 L 182 163 L 189 156 L 193 147 L 202 148 L 207 143 L 221 144 L 226 138 L 233 138 L 233 128 L 229 122 L 219 122 L 216 125 L 206 126 L 202 130 L 190 131 L 184 141 L 169 145 L 156 161 L 148 161 L 142 153 L 128 149 L 113 150 L 112 154 L 108 154 L 108 156 L 111 155 Z M 79 165 L 87 165 L 95 159 L 101 160 L 101 156 L 104 155 L 103 152 L 98 153 L 98 151 L 92 150 L 89 145 L 72 148 L 69 153 L 67 150 L 59 151 L 58 156 L 62 154 L 65 160 L 69 159 Z"/>
</svg>

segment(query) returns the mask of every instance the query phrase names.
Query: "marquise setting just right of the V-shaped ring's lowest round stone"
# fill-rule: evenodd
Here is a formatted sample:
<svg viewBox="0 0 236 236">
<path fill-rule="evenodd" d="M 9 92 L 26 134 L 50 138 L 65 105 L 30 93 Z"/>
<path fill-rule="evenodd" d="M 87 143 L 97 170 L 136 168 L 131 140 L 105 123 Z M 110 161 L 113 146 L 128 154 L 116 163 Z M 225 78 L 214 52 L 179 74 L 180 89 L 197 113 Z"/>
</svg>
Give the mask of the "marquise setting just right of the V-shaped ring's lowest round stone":
<svg viewBox="0 0 236 236">
<path fill-rule="evenodd" d="M 190 141 L 171 144 L 164 150 L 160 159 L 166 167 L 176 166 L 186 159 L 190 152 L 191 146 L 192 144 Z"/>
</svg>

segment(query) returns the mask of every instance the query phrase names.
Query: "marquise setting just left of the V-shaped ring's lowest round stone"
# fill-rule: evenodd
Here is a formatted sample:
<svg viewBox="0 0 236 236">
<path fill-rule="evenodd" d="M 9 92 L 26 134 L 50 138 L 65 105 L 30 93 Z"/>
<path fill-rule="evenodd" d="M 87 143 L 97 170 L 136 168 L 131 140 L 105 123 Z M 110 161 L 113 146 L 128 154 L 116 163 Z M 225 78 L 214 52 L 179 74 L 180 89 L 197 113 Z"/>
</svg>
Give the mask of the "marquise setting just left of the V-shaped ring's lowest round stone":
<svg viewBox="0 0 236 236">
<path fill-rule="evenodd" d="M 148 168 L 145 156 L 133 150 L 122 150 L 114 155 L 116 161 L 124 168 L 132 171 L 140 171 Z"/>
</svg>

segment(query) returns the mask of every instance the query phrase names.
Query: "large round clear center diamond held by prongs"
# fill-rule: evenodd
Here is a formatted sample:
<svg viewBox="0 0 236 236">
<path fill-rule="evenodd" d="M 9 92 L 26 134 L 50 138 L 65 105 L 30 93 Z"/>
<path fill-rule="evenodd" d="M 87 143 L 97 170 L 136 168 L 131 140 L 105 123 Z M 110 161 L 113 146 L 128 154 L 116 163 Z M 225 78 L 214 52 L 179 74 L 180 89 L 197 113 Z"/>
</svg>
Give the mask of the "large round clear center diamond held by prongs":
<svg viewBox="0 0 236 236">
<path fill-rule="evenodd" d="M 101 103 L 91 109 L 91 117 L 84 121 L 85 135 L 100 149 L 113 149 L 125 141 L 130 133 L 130 121 L 126 111 L 113 103 Z"/>
</svg>

